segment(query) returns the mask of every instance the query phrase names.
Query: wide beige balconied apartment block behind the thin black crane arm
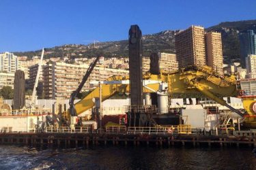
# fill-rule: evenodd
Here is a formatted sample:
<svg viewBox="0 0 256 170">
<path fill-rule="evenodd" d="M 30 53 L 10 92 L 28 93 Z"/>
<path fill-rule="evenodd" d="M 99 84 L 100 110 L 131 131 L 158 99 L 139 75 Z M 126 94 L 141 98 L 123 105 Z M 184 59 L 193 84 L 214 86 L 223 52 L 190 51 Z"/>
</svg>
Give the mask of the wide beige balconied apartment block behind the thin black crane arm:
<svg viewBox="0 0 256 170">
<path fill-rule="evenodd" d="M 88 67 L 89 65 L 48 62 L 43 67 L 44 97 L 46 99 L 68 99 L 71 93 L 78 88 Z M 94 67 L 82 91 L 92 88 L 89 85 L 90 81 L 101 81 L 112 75 L 128 74 L 129 71 L 127 70 Z"/>
</svg>

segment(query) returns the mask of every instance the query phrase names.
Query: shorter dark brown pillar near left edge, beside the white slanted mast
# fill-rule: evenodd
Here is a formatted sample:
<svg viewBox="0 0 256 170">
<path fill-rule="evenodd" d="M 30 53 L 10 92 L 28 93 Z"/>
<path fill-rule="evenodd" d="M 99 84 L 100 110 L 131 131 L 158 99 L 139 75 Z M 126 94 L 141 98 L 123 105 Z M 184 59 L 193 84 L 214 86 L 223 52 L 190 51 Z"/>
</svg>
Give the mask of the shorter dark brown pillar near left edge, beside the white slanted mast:
<svg viewBox="0 0 256 170">
<path fill-rule="evenodd" d="M 14 109 L 21 109 L 25 105 L 25 74 L 17 70 L 14 77 Z"/>
</svg>

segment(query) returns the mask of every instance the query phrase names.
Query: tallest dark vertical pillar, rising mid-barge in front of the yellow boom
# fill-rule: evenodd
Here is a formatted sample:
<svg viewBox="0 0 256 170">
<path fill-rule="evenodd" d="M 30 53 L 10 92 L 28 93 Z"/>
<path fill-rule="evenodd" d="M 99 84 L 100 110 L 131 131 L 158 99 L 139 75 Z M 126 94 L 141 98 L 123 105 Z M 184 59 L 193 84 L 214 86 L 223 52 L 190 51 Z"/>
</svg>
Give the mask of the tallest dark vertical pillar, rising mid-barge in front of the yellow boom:
<svg viewBox="0 0 256 170">
<path fill-rule="evenodd" d="M 137 24 L 129 30 L 130 105 L 143 105 L 142 35 Z"/>
</svg>

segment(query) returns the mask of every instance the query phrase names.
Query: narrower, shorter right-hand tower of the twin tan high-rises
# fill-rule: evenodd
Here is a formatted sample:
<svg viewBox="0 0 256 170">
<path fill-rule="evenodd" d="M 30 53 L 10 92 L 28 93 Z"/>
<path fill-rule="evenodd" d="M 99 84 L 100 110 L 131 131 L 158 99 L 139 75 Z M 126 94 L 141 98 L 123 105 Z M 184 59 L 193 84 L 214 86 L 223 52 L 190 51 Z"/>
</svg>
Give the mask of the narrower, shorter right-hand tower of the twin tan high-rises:
<svg viewBox="0 0 256 170">
<path fill-rule="evenodd" d="M 221 33 L 205 33 L 206 63 L 220 74 L 223 74 L 223 48 Z"/>
</svg>

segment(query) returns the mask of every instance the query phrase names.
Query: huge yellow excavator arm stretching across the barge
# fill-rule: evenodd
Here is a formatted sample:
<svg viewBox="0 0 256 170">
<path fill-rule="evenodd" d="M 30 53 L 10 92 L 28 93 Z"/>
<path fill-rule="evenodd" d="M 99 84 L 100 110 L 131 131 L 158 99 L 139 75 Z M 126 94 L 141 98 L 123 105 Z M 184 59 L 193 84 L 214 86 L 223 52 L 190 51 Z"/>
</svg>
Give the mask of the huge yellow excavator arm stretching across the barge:
<svg viewBox="0 0 256 170">
<path fill-rule="evenodd" d="M 102 101 L 117 93 L 130 92 L 129 76 L 114 75 L 100 83 Z M 245 113 L 234 109 L 223 99 L 223 97 L 242 97 L 243 91 L 238 86 L 235 75 L 219 75 L 208 66 L 190 66 L 179 71 L 160 71 L 160 74 L 147 72 L 143 75 L 143 92 L 145 93 L 159 92 L 163 90 L 162 86 L 164 84 L 166 86 L 165 90 L 171 98 L 208 97 L 228 107 L 232 112 L 236 112 L 238 116 L 247 116 L 245 123 L 256 126 L 255 113 L 251 109 L 251 103 L 253 102 L 251 98 L 243 98 Z M 82 114 L 94 107 L 94 98 L 100 98 L 100 87 L 95 88 L 81 101 L 74 104 L 76 114 Z"/>
</svg>

